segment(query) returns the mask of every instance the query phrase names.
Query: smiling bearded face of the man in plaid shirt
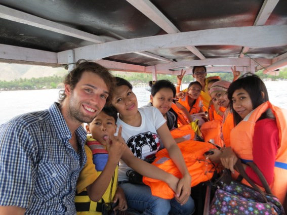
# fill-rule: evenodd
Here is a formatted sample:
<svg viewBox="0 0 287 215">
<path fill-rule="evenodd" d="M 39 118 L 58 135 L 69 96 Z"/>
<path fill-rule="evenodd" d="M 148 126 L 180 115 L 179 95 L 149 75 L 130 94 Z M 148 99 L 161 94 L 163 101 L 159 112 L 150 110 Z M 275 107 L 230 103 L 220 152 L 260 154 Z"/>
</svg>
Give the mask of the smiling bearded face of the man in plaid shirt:
<svg viewBox="0 0 287 215">
<path fill-rule="evenodd" d="M 91 122 L 102 110 L 109 96 L 104 80 L 93 72 L 84 72 L 71 90 L 65 84 L 68 99 L 67 117 L 77 123 Z"/>
</svg>

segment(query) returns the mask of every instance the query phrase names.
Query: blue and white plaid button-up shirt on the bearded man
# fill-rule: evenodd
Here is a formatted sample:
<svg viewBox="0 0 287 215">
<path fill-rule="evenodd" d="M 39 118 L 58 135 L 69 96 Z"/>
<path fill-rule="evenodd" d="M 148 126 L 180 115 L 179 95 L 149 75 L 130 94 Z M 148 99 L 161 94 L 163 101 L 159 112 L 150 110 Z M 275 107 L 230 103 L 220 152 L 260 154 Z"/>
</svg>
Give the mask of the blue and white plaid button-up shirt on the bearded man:
<svg viewBox="0 0 287 215">
<path fill-rule="evenodd" d="M 76 130 L 78 153 L 57 103 L 0 125 L 0 205 L 25 214 L 76 214 L 77 178 L 87 156 L 86 131 Z"/>
</svg>

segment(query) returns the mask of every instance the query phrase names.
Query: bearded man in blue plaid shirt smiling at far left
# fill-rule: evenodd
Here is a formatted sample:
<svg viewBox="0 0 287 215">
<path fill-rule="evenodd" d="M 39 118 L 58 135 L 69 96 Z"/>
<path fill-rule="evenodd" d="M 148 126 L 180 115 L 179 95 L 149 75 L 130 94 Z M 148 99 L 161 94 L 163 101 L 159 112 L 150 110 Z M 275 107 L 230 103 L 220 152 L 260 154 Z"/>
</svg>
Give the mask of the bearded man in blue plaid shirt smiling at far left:
<svg viewBox="0 0 287 215">
<path fill-rule="evenodd" d="M 80 60 L 59 103 L 0 125 L 0 214 L 75 214 L 74 196 L 87 157 L 83 122 L 109 102 L 114 78 Z"/>
</svg>

